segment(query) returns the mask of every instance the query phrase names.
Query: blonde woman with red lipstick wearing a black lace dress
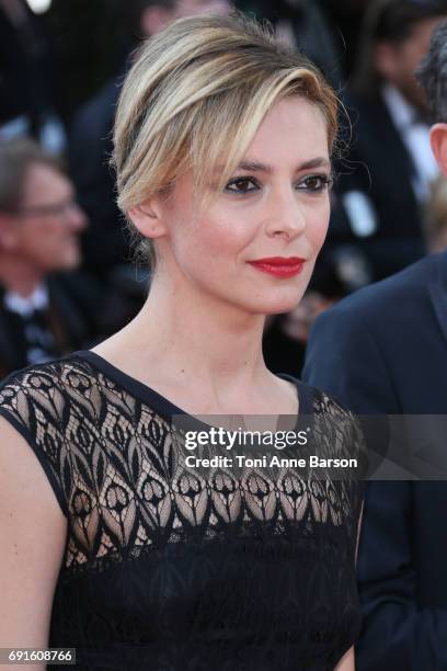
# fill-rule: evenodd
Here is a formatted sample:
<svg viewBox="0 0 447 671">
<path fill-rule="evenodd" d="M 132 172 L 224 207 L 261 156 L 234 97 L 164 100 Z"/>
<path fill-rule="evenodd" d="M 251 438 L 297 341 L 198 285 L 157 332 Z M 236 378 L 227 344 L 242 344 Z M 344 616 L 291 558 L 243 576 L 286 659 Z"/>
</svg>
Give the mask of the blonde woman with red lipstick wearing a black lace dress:
<svg viewBox="0 0 447 671">
<path fill-rule="evenodd" d="M 83 669 L 354 669 L 360 487 L 188 467 L 175 430 L 299 412 L 319 454 L 359 450 L 346 411 L 262 359 L 326 232 L 335 132 L 318 71 L 250 21 L 141 48 L 114 160 L 151 288 L 93 351 L 2 387 L 1 645 L 76 647 Z"/>
</svg>

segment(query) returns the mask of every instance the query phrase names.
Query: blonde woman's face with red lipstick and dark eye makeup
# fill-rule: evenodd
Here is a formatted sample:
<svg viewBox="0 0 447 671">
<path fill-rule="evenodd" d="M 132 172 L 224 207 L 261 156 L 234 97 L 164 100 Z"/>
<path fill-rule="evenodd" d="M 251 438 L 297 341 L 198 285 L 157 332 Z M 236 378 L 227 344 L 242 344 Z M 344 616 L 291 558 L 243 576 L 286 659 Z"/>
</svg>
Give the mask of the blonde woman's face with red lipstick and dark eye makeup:
<svg viewBox="0 0 447 671">
<path fill-rule="evenodd" d="M 326 235 L 330 178 L 320 110 L 298 96 L 277 102 L 208 209 L 197 214 L 192 174 L 159 203 L 160 271 L 245 312 L 293 309 Z"/>
</svg>

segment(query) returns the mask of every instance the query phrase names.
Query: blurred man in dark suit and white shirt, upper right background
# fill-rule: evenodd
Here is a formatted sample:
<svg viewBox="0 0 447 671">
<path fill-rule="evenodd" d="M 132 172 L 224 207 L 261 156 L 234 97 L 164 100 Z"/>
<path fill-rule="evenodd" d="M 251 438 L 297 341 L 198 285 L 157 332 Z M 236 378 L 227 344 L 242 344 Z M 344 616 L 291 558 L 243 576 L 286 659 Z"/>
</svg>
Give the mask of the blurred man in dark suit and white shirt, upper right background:
<svg viewBox="0 0 447 671">
<path fill-rule="evenodd" d="M 438 168 L 414 70 L 445 16 L 446 0 L 371 0 L 365 15 L 357 71 L 344 101 L 353 138 L 339 166 L 329 238 L 341 265 L 352 261 L 342 253 L 346 246 L 363 259 L 358 284 L 425 253 L 423 206 Z"/>
</svg>

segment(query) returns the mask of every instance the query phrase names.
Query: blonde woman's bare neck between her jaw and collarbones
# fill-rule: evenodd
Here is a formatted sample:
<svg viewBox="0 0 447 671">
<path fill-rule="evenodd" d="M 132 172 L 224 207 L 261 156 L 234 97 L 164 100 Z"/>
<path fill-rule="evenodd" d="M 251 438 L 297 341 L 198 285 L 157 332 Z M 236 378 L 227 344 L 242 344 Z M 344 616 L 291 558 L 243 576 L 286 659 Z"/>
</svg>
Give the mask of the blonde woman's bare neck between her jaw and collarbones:
<svg viewBox="0 0 447 671">
<path fill-rule="evenodd" d="M 222 382 L 265 369 L 263 327 L 263 315 L 247 314 L 188 285 L 172 287 L 156 280 L 133 332 L 149 355 L 163 360 L 163 367 L 169 360 L 176 373 Z"/>
</svg>

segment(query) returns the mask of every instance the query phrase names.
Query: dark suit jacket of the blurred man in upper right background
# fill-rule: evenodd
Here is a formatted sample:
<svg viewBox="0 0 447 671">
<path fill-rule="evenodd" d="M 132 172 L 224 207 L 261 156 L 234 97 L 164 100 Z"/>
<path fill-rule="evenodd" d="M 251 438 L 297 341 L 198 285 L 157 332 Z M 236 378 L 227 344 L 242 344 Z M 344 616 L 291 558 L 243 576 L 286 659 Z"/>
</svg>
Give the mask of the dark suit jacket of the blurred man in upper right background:
<svg viewBox="0 0 447 671">
<path fill-rule="evenodd" d="M 346 95 L 345 105 L 353 124 L 349 150 L 335 164 L 336 201 L 331 216 L 331 244 L 354 243 L 366 254 L 373 278 L 396 273 L 424 254 L 423 217 L 412 178 L 414 164 L 400 129 L 382 98 Z M 377 230 L 358 237 L 352 228 L 343 198 L 359 191 L 371 207 Z"/>
</svg>

